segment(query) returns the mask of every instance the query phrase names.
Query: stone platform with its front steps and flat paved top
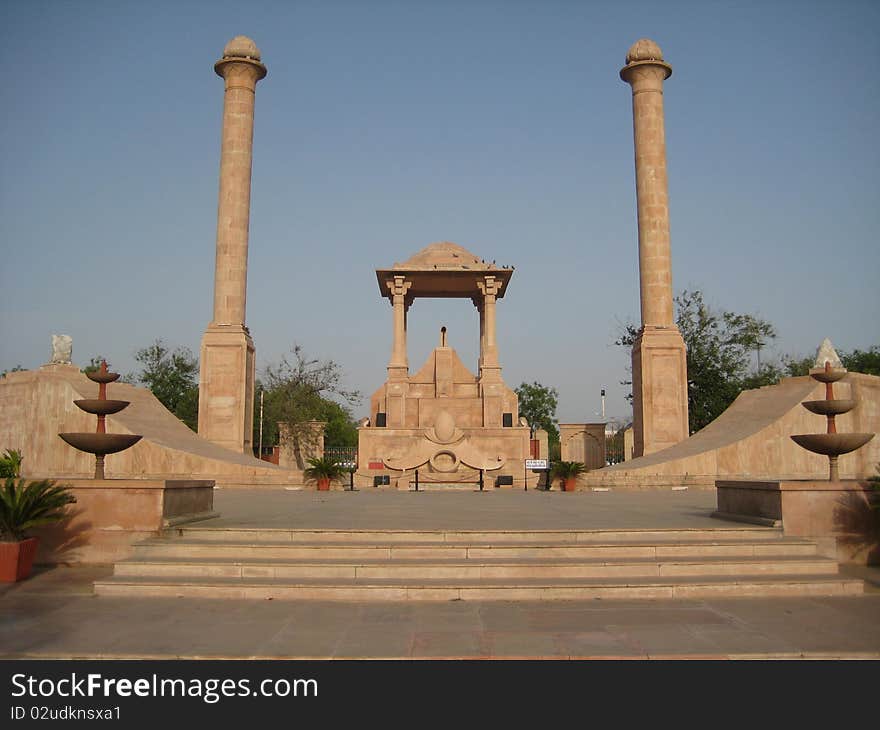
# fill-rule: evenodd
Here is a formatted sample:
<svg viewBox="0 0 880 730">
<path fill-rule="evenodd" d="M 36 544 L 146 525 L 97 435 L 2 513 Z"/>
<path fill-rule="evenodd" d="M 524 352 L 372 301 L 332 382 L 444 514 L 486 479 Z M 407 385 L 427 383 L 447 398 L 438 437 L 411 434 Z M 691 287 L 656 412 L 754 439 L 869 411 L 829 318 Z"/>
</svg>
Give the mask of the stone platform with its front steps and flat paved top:
<svg viewBox="0 0 880 730">
<path fill-rule="evenodd" d="M 102 596 L 545 601 L 847 596 L 814 541 L 721 523 L 704 494 L 251 493 L 144 541 Z M 714 495 L 712 495 L 714 498 Z M 650 507 L 655 507 L 653 513 Z M 592 508 L 592 509 L 591 509 Z M 268 514 L 267 514 L 268 511 Z M 589 517 L 588 517 L 589 515 Z M 590 527 L 593 523 L 596 526 Z"/>
</svg>

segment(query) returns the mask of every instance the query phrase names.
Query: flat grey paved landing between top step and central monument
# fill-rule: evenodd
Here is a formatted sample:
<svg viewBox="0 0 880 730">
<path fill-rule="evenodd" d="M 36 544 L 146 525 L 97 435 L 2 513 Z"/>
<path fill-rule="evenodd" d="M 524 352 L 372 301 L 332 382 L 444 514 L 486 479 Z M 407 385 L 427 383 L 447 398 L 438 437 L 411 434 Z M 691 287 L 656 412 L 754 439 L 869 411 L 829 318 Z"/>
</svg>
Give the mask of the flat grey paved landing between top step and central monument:
<svg viewBox="0 0 880 730">
<path fill-rule="evenodd" d="M 206 527 L 357 530 L 559 530 L 743 527 L 711 516 L 714 489 L 634 492 L 400 492 L 215 489 Z"/>
</svg>

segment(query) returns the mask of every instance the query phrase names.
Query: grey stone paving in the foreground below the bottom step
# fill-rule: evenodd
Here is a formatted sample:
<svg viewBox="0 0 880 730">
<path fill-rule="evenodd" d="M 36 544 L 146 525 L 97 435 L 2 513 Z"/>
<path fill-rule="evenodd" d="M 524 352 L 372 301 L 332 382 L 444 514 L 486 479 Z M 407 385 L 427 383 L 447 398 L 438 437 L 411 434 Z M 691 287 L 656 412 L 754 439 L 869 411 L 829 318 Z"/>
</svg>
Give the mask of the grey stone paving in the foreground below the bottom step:
<svg viewBox="0 0 880 730">
<path fill-rule="evenodd" d="M 0 656 L 880 659 L 880 590 L 840 598 L 364 604 L 105 598 L 89 594 L 96 574 L 43 569 L 6 590 Z"/>
</svg>

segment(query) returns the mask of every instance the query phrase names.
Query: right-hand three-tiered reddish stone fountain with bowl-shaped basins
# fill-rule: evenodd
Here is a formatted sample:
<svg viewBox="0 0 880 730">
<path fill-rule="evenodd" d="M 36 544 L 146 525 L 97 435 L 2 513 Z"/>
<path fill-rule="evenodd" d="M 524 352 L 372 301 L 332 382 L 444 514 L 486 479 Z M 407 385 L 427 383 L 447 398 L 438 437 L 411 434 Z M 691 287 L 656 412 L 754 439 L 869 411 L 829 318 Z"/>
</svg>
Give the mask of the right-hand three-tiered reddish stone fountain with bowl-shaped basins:
<svg viewBox="0 0 880 730">
<path fill-rule="evenodd" d="M 837 399 L 834 397 L 834 383 L 846 375 L 837 352 L 826 339 L 819 348 L 816 357 L 816 365 L 810 370 L 810 377 L 825 383 L 825 400 L 804 401 L 801 405 L 812 413 L 825 416 L 828 419 L 826 433 L 798 434 L 792 436 L 792 440 L 798 446 L 812 451 L 814 454 L 824 454 L 828 457 L 829 481 L 840 481 L 837 469 L 837 459 L 841 454 L 860 449 L 868 443 L 874 434 L 872 433 L 837 433 L 834 417 L 843 413 L 849 413 L 856 407 L 856 401 L 852 399 Z"/>
</svg>

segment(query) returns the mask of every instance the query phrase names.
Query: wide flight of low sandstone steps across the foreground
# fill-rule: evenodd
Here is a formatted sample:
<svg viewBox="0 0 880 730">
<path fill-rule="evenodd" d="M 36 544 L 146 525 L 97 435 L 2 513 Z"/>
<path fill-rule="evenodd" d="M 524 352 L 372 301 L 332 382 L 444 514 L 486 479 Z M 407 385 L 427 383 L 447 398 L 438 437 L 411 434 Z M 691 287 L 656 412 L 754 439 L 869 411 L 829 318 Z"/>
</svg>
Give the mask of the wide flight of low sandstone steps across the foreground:
<svg viewBox="0 0 880 730">
<path fill-rule="evenodd" d="M 861 594 L 808 539 L 755 527 L 301 530 L 184 527 L 139 543 L 102 596 L 344 601 Z"/>
</svg>

